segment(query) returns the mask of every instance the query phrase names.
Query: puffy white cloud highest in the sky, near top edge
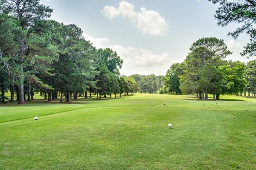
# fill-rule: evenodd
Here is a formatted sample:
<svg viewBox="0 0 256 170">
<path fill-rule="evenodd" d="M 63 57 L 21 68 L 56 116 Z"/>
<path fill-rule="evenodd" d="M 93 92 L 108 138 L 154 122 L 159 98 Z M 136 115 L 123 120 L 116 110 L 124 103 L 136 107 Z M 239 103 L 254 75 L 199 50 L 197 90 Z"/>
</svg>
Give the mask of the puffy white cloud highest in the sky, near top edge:
<svg viewBox="0 0 256 170">
<path fill-rule="evenodd" d="M 122 1 L 118 8 L 114 6 L 104 6 L 101 10 L 104 16 L 113 20 L 116 17 L 129 18 L 143 34 L 165 35 L 168 31 L 168 23 L 157 11 L 141 8 L 139 12 L 134 10 L 134 5 Z"/>
</svg>

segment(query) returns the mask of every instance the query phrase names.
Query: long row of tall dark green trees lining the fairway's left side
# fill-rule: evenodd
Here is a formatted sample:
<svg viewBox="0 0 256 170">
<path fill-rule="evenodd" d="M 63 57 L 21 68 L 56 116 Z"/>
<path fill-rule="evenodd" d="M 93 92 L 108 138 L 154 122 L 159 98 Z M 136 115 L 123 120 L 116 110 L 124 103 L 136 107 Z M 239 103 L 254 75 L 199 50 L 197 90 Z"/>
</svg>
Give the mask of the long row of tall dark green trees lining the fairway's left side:
<svg viewBox="0 0 256 170">
<path fill-rule="evenodd" d="M 40 91 L 48 101 L 134 93 L 120 77 L 123 60 L 110 48 L 96 49 L 75 24 L 47 20 L 53 9 L 40 0 L 0 0 L 0 86 L 18 103 Z"/>
</svg>

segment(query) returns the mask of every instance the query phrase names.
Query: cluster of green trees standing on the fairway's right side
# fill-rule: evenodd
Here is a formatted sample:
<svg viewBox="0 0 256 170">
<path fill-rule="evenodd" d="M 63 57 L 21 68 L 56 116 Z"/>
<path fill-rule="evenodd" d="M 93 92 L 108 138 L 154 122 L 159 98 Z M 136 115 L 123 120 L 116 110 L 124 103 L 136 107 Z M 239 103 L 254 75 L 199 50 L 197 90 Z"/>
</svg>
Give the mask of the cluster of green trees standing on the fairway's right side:
<svg viewBox="0 0 256 170">
<path fill-rule="evenodd" d="M 226 61 L 231 51 L 215 37 L 194 42 L 183 63 L 172 64 L 164 77 L 165 93 L 196 94 L 200 99 L 220 99 L 220 94 L 256 95 L 256 60 Z"/>
</svg>

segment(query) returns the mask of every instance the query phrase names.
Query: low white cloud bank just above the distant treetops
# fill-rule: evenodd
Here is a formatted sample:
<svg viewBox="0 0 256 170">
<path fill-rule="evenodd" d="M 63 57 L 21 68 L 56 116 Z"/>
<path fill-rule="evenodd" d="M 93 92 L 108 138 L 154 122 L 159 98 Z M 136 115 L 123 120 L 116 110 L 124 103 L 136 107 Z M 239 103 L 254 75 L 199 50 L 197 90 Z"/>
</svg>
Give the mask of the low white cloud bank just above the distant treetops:
<svg viewBox="0 0 256 170">
<path fill-rule="evenodd" d="M 109 45 L 109 39 L 95 38 L 84 35 L 86 40 L 90 40 L 93 45 L 99 48 L 111 48 L 123 59 L 122 75 L 143 74 L 161 75 L 170 67 L 172 62 L 167 53 L 154 54 L 152 51 L 132 46 L 123 47 L 122 45 Z M 149 69 L 152 68 L 152 69 Z"/>
</svg>

